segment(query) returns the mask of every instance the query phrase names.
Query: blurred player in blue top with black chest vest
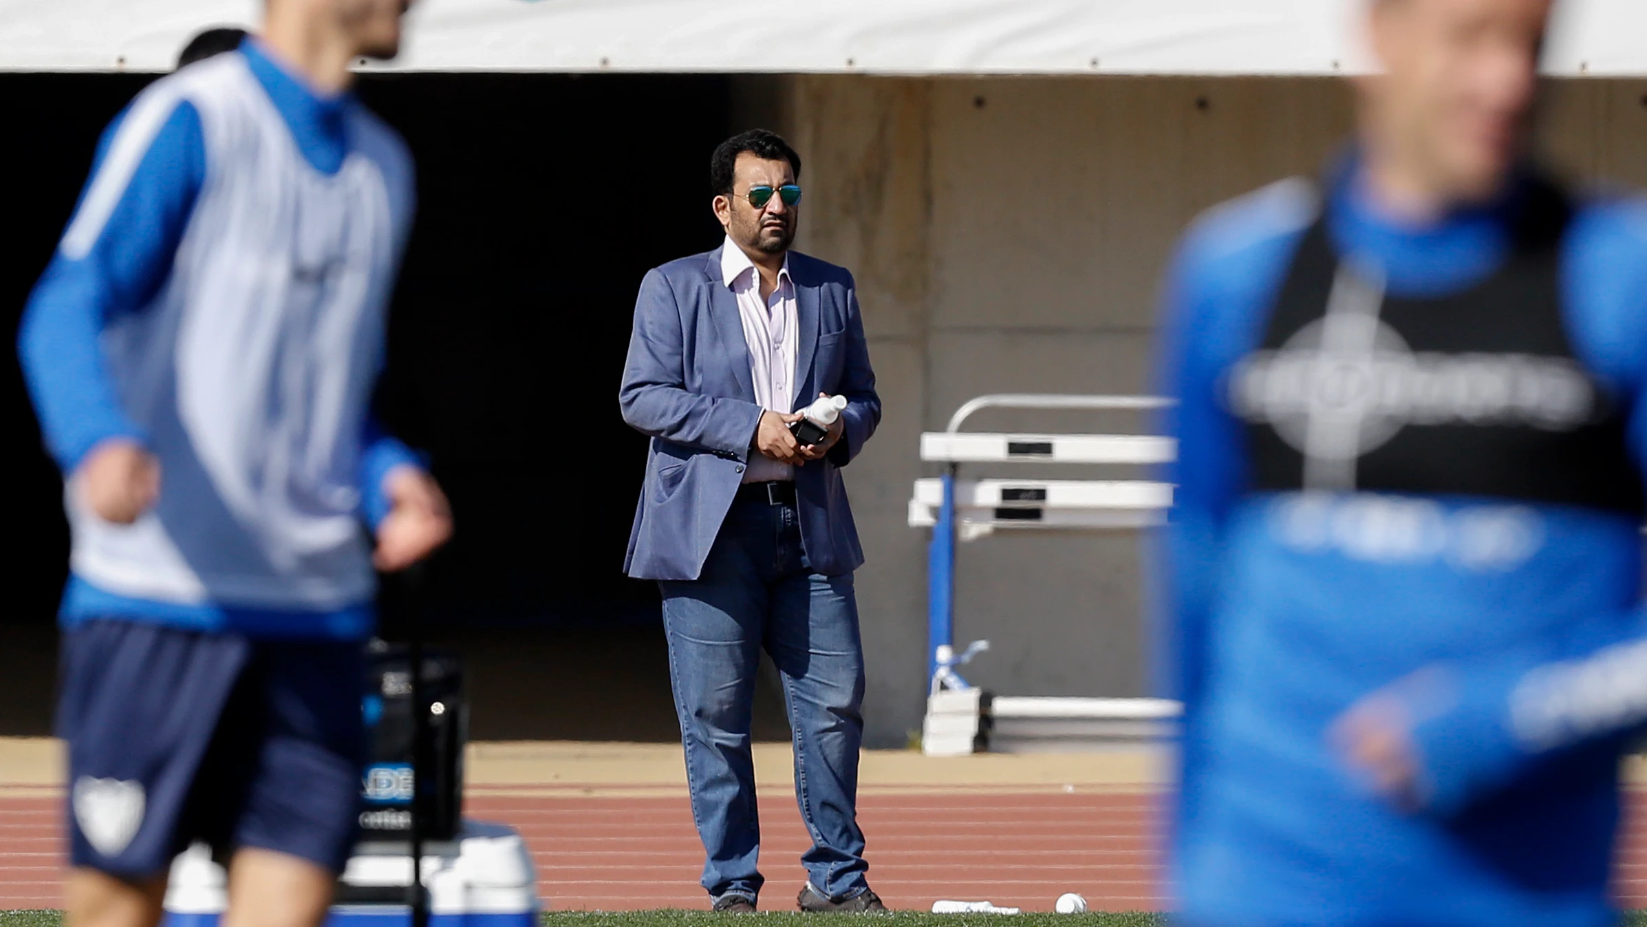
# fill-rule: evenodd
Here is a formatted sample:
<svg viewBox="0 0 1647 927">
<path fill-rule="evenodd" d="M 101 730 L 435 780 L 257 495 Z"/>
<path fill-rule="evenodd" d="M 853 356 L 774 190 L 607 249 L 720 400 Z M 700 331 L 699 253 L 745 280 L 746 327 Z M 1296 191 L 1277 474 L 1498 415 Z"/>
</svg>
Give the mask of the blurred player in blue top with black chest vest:
<svg viewBox="0 0 1647 927">
<path fill-rule="evenodd" d="M 1186 924 L 1616 922 L 1647 206 L 1530 166 L 1548 15 L 1370 2 L 1349 153 L 1178 255 Z"/>
</svg>

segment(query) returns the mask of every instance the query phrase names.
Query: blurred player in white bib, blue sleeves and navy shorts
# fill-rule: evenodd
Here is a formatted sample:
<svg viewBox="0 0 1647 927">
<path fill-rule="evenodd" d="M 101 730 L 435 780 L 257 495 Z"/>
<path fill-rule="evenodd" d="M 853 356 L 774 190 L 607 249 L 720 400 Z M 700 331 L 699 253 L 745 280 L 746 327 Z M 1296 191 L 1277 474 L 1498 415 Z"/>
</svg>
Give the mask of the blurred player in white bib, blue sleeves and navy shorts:
<svg viewBox="0 0 1647 927">
<path fill-rule="evenodd" d="M 259 38 L 109 127 L 30 300 L 66 474 L 68 917 L 148 927 L 191 840 L 231 927 L 321 922 L 356 832 L 376 565 L 450 533 L 369 423 L 412 221 L 400 138 L 349 95 L 402 0 L 268 0 Z"/>
</svg>

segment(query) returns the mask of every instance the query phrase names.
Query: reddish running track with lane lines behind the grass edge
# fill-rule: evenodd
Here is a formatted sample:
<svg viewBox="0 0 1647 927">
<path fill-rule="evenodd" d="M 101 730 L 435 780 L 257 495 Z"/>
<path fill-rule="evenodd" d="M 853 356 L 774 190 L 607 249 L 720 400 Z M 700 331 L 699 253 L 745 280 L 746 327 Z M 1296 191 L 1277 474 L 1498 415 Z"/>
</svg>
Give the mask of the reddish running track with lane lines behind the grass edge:
<svg viewBox="0 0 1647 927">
<path fill-rule="evenodd" d="M 563 795 L 563 794 L 562 794 Z M 1631 802 L 1632 825 L 1617 871 L 1621 902 L 1647 906 L 1647 804 Z M 860 802 L 870 840 L 870 878 L 893 907 L 934 899 L 990 899 L 1047 911 L 1066 891 L 1094 909 L 1156 909 L 1153 799 L 1100 792 L 878 792 Z M 702 848 L 685 795 L 547 797 L 476 789 L 469 817 L 522 832 L 553 909 L 707 907 L 698 887 Z M 763 891 L 789 909 L 800 891 L 809 845 L 794 802 L 761 800 Z M 0 794 L 0 909 L 61 907 L 61 799 Z"/>
</svg>

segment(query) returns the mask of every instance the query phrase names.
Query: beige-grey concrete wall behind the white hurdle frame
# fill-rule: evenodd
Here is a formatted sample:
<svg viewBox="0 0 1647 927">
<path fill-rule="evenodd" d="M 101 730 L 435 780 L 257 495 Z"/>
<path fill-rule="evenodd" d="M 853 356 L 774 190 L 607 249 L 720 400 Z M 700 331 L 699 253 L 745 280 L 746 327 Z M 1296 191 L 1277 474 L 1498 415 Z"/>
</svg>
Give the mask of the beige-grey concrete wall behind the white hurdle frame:
<svg viewBox="0 0 1647 927">
<path fill-rule="evenodd" d="M 1647 181 L 1642 84 L 1556 87 L 1548 147 L 1586 176 Z M 735 123 L 805 158 L 800 247 L 858 278 L 886 418 L 848 471 L 870 561 L 858 576 L 871 743 L 919 728 L 926 532 L 904 524 L 922 430 L 987 392 L 1145 392 L 1158 282 L 1199 211 L 1316 171 L 1351 127 L 1313 79 L 746 77 Z M 1125 428 L 987 413 L 980 428 Z M 1024 476 L 1034 469 L 1018 469 Z M 1080 476 L 1074 468 L 1039 471 Z M 962 547 L 968 677 L 1011 695 L 1145 690 L 1135 535 Z"/>
</svg>

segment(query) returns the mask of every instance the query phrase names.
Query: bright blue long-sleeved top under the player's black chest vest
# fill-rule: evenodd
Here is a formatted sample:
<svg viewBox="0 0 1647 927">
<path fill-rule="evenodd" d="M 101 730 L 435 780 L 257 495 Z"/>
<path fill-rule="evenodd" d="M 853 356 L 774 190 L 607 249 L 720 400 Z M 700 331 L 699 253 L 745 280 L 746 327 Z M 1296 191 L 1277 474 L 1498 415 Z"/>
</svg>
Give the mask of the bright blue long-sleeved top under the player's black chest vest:
<svg viewBox="0 0 1647 927">
<path fill-rule="evenodd" d="M 1561 431 L 1571 397 L 1596 384 L 1639 491 L 1647 204 L 1576 203 L 1551 245 L 1553 338 L 1565 334 L 1573 370 L 1560 357 L 1408 351 L 1375 316 L 1355 321 L 1354 286 L 1332 290 L 1337 323 L 1298 338 L 1364 338 L 1382 357 L 1402 354 L 1402 370 L 1418 370 L 1410 392 L 1379 402 L 1408 418 L 1334 431 L 1276 413 L 1267 425 L 1296 445 L 1304 481 L 1324 486 L 1288 491 L 1255 463 L 1243 395 L 1280 402 L 1288 369 L 1267 338 L 1306 237 L 1324 235 L 1387 300 L 1444 306 L 1510 260 L 1532 183 L 1410 227 L 1383 217 L 1357 178 L 1352 161 L 1324 191 L 1285 181 L 1220 206 L 1171 268 L 1161 374 L 1179 403 L 1169 415 L 1179 454 L 1156 560 L 1161 672 L 1186 705 L 1171 863 L 1179 914 L 1207 927 L 1612 924 L 1617 761 L 1647 720 L 1640 519 L 1492 489 L 1379 491 L 1352 474 L 1369 448 L 1443 415 L 1520 415 L 1530 433 Z M 1522 296 L 1514 285 L 1499 293 Z M 1502 334 L 1479 328 L 1486 341 Z M 1486 398 L 1448 398 L 1458 407 L 1448 412 L 1420 395 L 1443 382 L 1487 384 Z M 1519 463 L 1444 456 L 1430 459 L 1489 477 Z M 1400 461 L 1402 477 L 1423 484 L 1413 474 L 1423 463 Z M 1334 486 L 1346 468 L 1351 481 Z M 1573 484 L 1591 476 L 1540 479 L 1583 499 L 1586 486 Z M 1415 721 L 1416 810 L 1370 794 L 1329 744 L 1346 708 L 1397 682 Z"/>
</svg>

